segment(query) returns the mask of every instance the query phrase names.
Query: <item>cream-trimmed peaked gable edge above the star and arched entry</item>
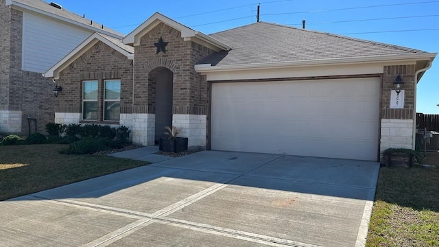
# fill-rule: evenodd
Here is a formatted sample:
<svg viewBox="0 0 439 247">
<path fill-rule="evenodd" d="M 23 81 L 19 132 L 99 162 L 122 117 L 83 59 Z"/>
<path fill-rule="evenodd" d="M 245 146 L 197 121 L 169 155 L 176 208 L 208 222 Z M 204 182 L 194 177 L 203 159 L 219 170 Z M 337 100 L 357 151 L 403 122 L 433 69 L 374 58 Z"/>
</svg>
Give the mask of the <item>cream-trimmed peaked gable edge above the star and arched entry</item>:
<svg viewBox="0 0 439 247">
<path fill-rule="evenodd" d="M 147 34 L 147 32 L 150 32 L 159 23 L 165 23 L 169 27 L 178 30 L 181 33 L 181 37 L 184 38 L 185 41 L 193 40 L 194 42 L 205 45 L 206 47 L 209 47 L 215 51 L 227 51 L 230 49 L 230 47 L 228 47 L 228 45 L 225 43 L 215 40 L 215 38 L 202 34 L 201 32 L 192 30 L 191 28 L 169 19 L 167 16 L 164 16 L 158 12 L 153 14 L 149 19 L 147 19 L 144 23 L 139 25 L 139 27 L 123 38 L 123 43 L 134 46 L 140 45 L 141 37 Z"/>
</svg>

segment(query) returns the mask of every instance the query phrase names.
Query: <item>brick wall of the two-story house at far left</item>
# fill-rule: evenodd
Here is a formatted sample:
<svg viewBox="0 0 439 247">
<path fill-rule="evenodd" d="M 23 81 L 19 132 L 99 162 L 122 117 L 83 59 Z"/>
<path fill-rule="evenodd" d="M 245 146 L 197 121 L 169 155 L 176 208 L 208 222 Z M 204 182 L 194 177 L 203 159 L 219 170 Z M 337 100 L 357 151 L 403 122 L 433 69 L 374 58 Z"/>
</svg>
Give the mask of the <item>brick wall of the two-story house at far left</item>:
<svg viewBox="0 0 439 247">
<path fill-rule="evenodd" d="M 0 110 L 19 114 L 21 119 L 12 123 L 10 118 L 2 118 L 0 128 L 27 133 L 27 117 L 31 117 L 37 120 L 37 131 L 45 132 L 45 125 L 54 121 L 54 84 L 40 73 L 21 69 L 23 12 L 0 0 L 0 21 Z"/>
</svg>

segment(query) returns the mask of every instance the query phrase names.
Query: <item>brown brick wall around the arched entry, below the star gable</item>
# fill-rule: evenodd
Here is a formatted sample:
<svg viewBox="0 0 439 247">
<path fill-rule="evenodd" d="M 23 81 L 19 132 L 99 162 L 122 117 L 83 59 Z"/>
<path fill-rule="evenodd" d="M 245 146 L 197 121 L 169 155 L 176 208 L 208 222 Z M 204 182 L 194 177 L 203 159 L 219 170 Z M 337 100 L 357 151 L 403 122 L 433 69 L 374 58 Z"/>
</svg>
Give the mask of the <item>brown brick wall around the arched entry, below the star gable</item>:
<svg viewBox="0 0 439 247">
<path fill-rule="evenodd" d="M 166 54 L 156 54 L 154 43 L 157 43 L 159 38 L 168 43 Z M 134 93 L 135 106 L 150 106 L 143 107 L 147 110 L 145 113 L 154 113 L 155 86 L 154 80 L 149 78 L 154 77 L 155 69 L 165 67 L 174 73 L 173 113 L 206 113 L 207 83 L 202 75 L 195 72 L 194 66 L 214 51 L 191 40 L 183 40 L 178 30 L 164 23 L 156 25 L 141 37 L 140 45 L 134 49 L 134 85 L 138 89 Z"/>
</svg>

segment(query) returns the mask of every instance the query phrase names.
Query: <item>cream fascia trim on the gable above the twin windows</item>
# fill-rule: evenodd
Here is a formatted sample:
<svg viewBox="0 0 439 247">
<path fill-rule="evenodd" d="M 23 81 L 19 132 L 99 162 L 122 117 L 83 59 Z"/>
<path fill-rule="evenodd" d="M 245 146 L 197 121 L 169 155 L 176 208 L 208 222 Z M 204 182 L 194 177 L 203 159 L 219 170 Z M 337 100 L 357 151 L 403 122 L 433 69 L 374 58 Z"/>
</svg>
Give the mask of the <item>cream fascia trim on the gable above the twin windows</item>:
<svg viewBox="0 0 439 247">
<path fill-rule="evenodd" d="M 78 59 L 82 54 L 84 54 L 85 51 L 93 47 L 96 43 L 99 41 L 102 41 L 106 45 L 110 46 L 112 49 L 115 49 L 116 51 L 119 51 L 119 53 L 125 55 L 129 60 L 134 59 L 134 54 L 131 54 L 130 52 L 126 51 L 125 49 L 122 49 L 121 47 L 115 45 L 115 43 L 110 42 L 103 36 L 95 33 L 92 34 L 90 37 L 88 37 L 84 42 L 82 42 L 78 47 L 73 49 L 73 51 L 70 51 L 69 54 L 64 56 L 59 62 L 57 62 L 54 66 L 52 66 L 49 70 L 47 70 L 45 73 L 43 73 L 43 76 L 45 78 L 54 78 L 59 79 L 59 72 L 65 69 L 66 67 L 71 64 L 74 60 Z"/>
</svg>

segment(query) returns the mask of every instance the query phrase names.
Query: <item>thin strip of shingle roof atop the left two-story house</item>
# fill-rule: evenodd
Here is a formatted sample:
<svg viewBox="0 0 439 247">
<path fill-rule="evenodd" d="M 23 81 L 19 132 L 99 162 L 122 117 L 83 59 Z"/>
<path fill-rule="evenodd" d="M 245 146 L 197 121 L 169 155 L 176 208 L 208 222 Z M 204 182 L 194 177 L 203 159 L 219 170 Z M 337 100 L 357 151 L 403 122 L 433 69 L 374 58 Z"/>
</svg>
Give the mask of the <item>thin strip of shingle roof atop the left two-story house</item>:
<svg viewBox="0 0 439 247">
<path fill-rule="evenodd" d="M 95 27 L 98 30 L 102 30 L 102 32 L 108 32 L 110 34 L 115 34 L 119 37 L 123 37 L 124 35 L 112 30 L 108 27 L 104 26 L 104 29 L 102 29 L 102 24 L 96 23 L 95 21 L 93 21 L 93 24 L 91 24 L 91 20 L 90 19 L 86 19 L 83 18 L 83 16 L 80 16 L 78 14 L 75 14 L 73 12 L 70 12 L 69 10 L 66 10 L 64 8 L 62 8 L 61 10 L 58 8 L 55 8 L 54 6 L 49 5 L 49 3 L 45 2 L 45 1 L 40 1 L 40 0 L 12 0 L 12 2 L 15 3 L 21 3 L 23 5 L 27 5 L 31 8 L 35 8 L 37 10 L 41 10 L 43 12 L 47 12 L 50 14 L 55 14 L 57 16 L 60 16 L 62 18 L 65 19 L 69 19 L 71 21 L 75 21 L 77 23 L 82 23 L 84 25 L 88 25 L 89 27 Z"/>
</svg>

